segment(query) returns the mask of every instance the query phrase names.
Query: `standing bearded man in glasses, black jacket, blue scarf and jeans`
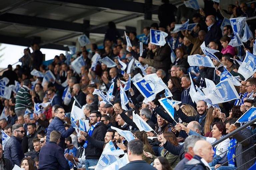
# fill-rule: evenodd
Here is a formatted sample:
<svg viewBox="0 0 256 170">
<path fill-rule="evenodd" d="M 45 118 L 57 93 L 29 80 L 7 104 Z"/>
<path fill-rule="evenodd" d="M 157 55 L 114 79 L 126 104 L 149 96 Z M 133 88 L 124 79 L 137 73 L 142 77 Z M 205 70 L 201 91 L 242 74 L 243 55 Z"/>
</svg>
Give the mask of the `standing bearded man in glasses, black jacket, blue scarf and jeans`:
<svg viewBox="0 0 256 170">
<path fill-rule="evenodd" d="M 88 130 L 88 135 L 95 140 L 105 141 L 105 134 L 107 127 L 104 123 L 100 122 L 101 114 L 98 111 L 92 111 L 90 114 L 91 128 Z M 100 158 L 103 148 L 94 146 L 94 143 L 86 140 L 85 142 L 79 141 L 84 147 L 85 153 L 85 168 L 88 169 L 90 166 L 95 166 Z"/>
</svg>

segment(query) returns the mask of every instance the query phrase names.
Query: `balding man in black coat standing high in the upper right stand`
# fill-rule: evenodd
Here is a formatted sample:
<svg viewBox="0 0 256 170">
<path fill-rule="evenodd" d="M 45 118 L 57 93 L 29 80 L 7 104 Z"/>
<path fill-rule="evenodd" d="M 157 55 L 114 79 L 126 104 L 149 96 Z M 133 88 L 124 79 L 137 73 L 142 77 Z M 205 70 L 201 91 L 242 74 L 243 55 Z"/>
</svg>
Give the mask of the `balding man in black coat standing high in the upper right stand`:
<svg viewBox="0 0 256 170">
<path fill-rule="evenodd" d="M 220 38 L 222 37 L 222 32 L 220 27 L 217 26 L 215 16 L 207 16 L 205 22 L 208 26 L 208 32 L 204 38 L 205 45 L 207 46 L 211 41 L 219 42 Z"/>
</svg>

